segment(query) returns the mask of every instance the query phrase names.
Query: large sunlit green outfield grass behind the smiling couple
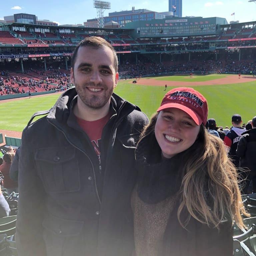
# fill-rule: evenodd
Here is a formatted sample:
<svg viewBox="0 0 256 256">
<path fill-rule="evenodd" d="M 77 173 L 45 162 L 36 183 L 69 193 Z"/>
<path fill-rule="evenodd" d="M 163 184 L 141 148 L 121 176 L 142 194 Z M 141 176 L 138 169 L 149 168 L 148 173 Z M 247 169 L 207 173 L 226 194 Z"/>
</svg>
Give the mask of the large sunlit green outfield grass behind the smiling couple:
<svg viewBox="0 0 256 256">
<path fill-rule="evenodd" d="M 193 86 L 191 86 L 193 87 Z M 168 86 L 168 90 L 174 87 Z M 215 118 L 217 125 L 230 126 L 231 116 L 241 114 L 244 123 L 256 115 L 256 81 L 229 85 L 194 86 L 209 104 L 209 118 Z M 115 92 L 138 105 L 150 117 L 160 105 L 166 91 L 162 86 L 145 86 L 120 81 Z M 0 102 L 0 129 L 22 131 L 31 115 L 39 110 L 51 108 L 59 94 L 19 101 Z"/>
</svg>

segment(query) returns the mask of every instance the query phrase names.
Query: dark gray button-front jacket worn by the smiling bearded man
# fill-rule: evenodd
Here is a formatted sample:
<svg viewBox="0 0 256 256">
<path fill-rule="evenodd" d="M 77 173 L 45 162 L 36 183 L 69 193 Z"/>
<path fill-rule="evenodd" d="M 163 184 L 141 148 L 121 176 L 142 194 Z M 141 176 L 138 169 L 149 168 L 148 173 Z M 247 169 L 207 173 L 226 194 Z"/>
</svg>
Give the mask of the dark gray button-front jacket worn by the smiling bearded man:
<svg viewBox="0 0 256 256">
<path fill-rule="evenodd" d="M 134 149 L 148 119 L 135 105 L 116 94 L 111 96 L 114 114 L 106 125 L 110 136 L 105 143 L 101 197 L 96 182 L 98 158 L 71 111 L 75 100 L 75 89 L 66 91 L 47 116 L 32 124 L 31 119 L 23 131 L 19 256 L 132 254 Z"/>
</svg>

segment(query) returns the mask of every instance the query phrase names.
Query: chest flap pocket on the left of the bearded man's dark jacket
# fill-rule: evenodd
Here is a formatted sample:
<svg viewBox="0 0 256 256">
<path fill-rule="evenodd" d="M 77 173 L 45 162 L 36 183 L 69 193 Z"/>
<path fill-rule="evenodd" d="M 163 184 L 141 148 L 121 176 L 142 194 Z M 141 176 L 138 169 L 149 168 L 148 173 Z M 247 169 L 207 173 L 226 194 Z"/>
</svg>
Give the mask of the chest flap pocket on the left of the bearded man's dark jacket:
<svg viewBox="0 0 256 256">
<path fill-rule="evenodd" d="M 64 163 L 75 157 L 74 147 L 40 148 L 36 151 L 35 160 L 48 163 Z"/>
</svg>

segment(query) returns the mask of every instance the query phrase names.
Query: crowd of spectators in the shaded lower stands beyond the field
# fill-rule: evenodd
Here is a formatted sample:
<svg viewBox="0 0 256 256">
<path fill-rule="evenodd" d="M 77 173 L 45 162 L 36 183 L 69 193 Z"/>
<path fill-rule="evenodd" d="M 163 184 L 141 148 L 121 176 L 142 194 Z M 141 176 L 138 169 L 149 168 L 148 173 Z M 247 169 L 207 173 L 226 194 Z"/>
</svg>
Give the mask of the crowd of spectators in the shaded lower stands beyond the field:
<svg viewBox="0 0 256 256">
<path fill-rule="evenodd" d="M 198 72 L 208 74 L 210 72 L 224 73 L 234 72 L 243 73 L 256 70 L 256 61 L 243 60 L 237 61 L 232 59 L 232 54 L 227 54 L 226 59 L 215 60 L 214 54 L 209 59 L 204 56 L 192 55 L 192 60 L 170 60 L 156 61 L 149 58 L 140 57 L 135 61 L 122 61 L 118 67 L 120 77 L 140 77 L 146 75 L 159 75 L 163 73 L 190 73 Z M 198 53 L 200 55 L 202 53 Z M 173 55 L 174 56 L 174 55 Z M 61 57 L 62 58 L 62 57 Z M 193 59 L 194 58 L 194 59 Z M 198 59 L 204 59 L 199 61 Z M 47 71 L 44 69 L 44 63 L 41 60 L 28 59 L 24 60 L 24 74 L 11 72 L 17 70 L 18 62 L 9 62 L 4 65 L 5 70 L 0 69 L 0 94 L 28 93 L 38 91 L 49 91 L 64 89 L 70 85 L 69 71 L 64 70 L 64 60 L 52 61 L 47 64 Z M 68 61 L 70 65 L 70 59 Z M 15 67 L 12 69 L 12 67 Z M 1 67 L 0 67 L 1 68 Z M 39 90 L 40 89 L 40 90 Z"/>
</svg>

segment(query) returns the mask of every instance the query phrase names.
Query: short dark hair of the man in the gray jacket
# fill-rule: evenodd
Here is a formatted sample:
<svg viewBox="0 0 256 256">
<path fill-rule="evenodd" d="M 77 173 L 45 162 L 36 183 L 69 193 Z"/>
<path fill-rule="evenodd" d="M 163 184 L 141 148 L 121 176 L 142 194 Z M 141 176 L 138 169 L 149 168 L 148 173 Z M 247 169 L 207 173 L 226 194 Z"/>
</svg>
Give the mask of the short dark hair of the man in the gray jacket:
<svg viewBox="0 0 256 256">
<path fill-rule="evenodd" d="M 74 66 L 75 66 L 75 61 L 76 61 L 76 56 L 77 56 L 78 49 L 81 46 L 91 46 L 91 47 L 95 47 L 95 48 L 102 48 L 103 46 L 107 46 L 108 48 L 110 48 L 112 50 L 113 54 L 114 54 L 114 69 L 115 69 L 115 72 L 117 72 L 117 70 L 118 70 L 118 58 L 117 58 L 115 49 L 104 38 L 101 38 L 101 37 L 98 37 L 98 36 L 86 37 L 80 43 L 78 43 L 78 45 L 76 46 L 76 48 L 74 50 L 72 60 L 71 60 L 71 67 L 73 69 L 74 69 Z"/>
</svg>

